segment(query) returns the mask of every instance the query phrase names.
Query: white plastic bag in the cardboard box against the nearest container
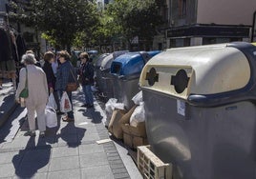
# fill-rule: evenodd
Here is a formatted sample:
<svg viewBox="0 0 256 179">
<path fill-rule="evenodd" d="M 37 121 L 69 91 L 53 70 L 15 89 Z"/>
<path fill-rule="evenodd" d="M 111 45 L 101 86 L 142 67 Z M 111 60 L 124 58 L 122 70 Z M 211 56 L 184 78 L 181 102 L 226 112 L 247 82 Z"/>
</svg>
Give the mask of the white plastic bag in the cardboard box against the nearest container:
<svg viewBox="0 0 256 179">
<path fill-rule="evenodd" d="M 136 107 L 130 118 L 130 126 L 137 127 L 138 123 L 145 121 L 145 109 L 144 102 L 140 102 L 139 106 Z"/>
</svg>

